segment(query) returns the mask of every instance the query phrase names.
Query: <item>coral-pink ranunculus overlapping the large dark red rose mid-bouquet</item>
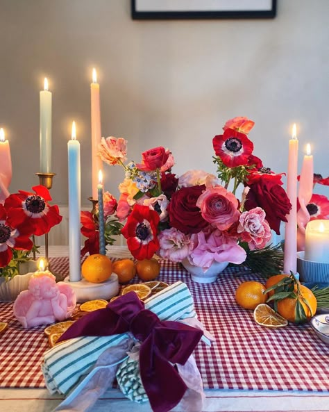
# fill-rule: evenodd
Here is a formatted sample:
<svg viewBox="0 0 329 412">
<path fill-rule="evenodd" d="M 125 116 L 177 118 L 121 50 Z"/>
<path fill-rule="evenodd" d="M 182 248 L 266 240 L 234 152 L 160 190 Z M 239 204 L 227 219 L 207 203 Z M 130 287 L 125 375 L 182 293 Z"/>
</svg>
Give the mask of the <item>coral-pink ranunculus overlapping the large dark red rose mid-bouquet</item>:
<svg viewBox="0 0 329 412">
<path fill-rule="evenodd" d="M 221 231 L 239 220 L 239 201 L 223 186 L 207 188 L 196 201 L 196 206 L 201 209 L 203 219 Z"/>
</svg>

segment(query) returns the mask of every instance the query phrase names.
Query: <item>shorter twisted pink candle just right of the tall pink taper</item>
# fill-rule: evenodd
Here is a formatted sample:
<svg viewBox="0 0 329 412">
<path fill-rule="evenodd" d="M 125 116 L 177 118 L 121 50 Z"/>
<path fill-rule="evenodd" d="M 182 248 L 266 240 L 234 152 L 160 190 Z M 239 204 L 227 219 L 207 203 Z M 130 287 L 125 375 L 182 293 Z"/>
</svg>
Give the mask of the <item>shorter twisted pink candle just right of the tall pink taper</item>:
<svg viewBox="0 0 329 412">
<path fill-rule="evenodd" d="M 298 229 L 305 234 L 305 228 L 310 222 L 310 213 L 307 211 L 307 204 L 310 203 L 313 192 L 313 156 L 311 155 L 310 144 L 307 143 L 306 154 L 303 160 L 301 178 L 299 179 L 298 200 L 301 208 L 297 213 Z"/>
</svg>

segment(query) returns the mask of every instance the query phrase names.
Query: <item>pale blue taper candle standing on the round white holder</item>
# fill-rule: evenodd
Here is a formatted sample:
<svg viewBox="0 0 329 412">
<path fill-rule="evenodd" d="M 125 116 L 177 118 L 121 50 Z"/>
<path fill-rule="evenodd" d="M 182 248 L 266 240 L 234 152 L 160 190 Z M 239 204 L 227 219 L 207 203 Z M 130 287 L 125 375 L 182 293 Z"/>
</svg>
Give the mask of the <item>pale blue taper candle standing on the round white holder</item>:
<svg viewBox="0 0 329 412">
<path fill-rule="evenodd" d="M 69 155 L 69 281 L 81 280 L 81 170 L 80 143 L 76 140 L 76 124 L 67 144 Z"/>
</svg>

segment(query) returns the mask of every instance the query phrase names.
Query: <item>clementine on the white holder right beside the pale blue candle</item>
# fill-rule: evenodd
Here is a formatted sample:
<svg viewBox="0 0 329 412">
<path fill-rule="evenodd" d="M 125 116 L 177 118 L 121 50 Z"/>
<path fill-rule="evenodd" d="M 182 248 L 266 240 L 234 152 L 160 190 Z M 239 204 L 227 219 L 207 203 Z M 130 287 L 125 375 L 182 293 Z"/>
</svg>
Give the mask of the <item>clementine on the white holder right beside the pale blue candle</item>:
<svg viewBox="0 0 329 412">
<path fill-rule="evenodd" d="M 112 262 L 105 255 L 90 255 L 81 266 L 81 274 L 88 282 L 101 283 L 111 276 Z"/>
</svg>

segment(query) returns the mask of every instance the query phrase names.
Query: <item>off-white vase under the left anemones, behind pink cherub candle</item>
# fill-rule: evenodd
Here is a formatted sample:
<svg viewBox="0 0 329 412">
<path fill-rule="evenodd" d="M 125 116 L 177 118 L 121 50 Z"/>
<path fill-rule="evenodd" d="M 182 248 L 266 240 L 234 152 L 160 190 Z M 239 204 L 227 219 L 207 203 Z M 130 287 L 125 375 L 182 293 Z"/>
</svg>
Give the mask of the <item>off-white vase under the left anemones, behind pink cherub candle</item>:
<svg viewBox="0 0 329 412">
<path fill-rule="evenodd" d="M 28 288 L 31 276 L 37 270 L 35 261 L 27 261 L 19 265 L 19 272 L 10 280 L 0 277 L 0 302 L 13 302 L 20 292 Z"/>
</svg>

